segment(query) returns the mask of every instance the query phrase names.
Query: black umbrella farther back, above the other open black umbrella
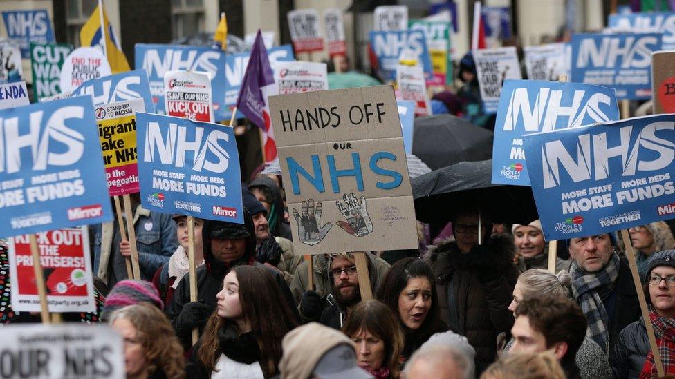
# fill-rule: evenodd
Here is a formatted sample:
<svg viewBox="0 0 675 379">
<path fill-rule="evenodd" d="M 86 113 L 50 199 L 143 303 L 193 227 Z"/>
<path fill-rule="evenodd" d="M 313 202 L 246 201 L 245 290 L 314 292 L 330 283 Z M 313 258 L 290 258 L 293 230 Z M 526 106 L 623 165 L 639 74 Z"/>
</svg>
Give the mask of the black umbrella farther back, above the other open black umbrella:
<svg viewBox="0 0 675 379">
<path fill-rule="evenodd" d="M 492 158 L 492 131 L 453 115 L 415 119 L 412 153 L 432 170 Z"/>
</svg>

